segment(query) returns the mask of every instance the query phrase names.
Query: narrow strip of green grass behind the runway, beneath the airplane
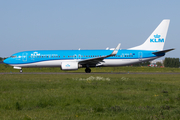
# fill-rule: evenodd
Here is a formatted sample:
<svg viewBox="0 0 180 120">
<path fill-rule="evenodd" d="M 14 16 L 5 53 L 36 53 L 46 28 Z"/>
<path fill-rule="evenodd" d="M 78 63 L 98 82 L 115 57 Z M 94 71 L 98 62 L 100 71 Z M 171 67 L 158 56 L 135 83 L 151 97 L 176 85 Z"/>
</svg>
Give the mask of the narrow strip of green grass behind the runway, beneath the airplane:
<svg viewBox="0 0 180 120">
<path fill-rule="evenodd" d="M 0 72 L 19 72 L 12 66 L 0 64 Z M 60 67 L 56 68 L 23 68 L 23 72 L 85 72 L 85 68 L 76 71 L 62 71 Z M 97 67 L 91 68 L 91 72 L 180 72 L 179 68 L 159 68 L 159 67 Z"/>
</svg>

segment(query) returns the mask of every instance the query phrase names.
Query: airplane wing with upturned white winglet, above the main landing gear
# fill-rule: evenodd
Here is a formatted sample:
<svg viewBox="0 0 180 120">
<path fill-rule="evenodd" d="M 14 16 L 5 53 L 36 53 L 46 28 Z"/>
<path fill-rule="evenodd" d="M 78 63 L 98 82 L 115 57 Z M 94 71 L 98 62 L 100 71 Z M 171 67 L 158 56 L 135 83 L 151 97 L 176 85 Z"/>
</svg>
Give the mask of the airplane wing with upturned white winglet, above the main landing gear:
<svg viewBox="0 0 180 120">
<path fill-rule="evenodd" d="M 81 60 L 79 61 L 79 64 L 97 64 L 99 62 L 103 62 L 104 58 L 116 55 L 118 53 L 120 45 L 121 44 L 119 43 L 118 46 L 114 49 L 114 51 L 110 55 Z"/>
</svg>

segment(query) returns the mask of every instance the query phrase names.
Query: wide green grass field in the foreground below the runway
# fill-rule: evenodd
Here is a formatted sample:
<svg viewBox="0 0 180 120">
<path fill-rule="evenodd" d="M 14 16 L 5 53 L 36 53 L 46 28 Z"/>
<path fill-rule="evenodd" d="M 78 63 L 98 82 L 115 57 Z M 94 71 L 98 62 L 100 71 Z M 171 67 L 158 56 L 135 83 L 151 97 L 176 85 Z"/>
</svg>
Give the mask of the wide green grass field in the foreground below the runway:
<svg viewBox="0 0 180 120">
<path fill-rule="evenodd" d="M 0 74 L 2 120 L 180 119 L 180 75 Z"/>
</svg>

